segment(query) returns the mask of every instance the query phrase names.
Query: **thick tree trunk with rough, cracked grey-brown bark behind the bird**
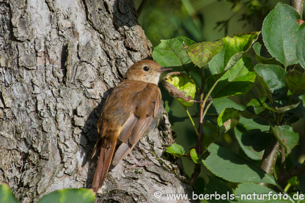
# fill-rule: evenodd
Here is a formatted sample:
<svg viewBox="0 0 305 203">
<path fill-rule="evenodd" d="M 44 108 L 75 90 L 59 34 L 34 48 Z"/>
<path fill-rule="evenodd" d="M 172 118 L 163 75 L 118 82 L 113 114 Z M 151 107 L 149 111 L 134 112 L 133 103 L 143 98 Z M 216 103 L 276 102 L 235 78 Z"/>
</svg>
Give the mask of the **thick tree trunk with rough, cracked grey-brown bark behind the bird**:
<svg viewBox="0 0 305 203">
<path fill-rule="evenodd" d="M 129 66 L 151 58 L 133 1 L 0 0 L 0 14 L 0 180 L 20 202 L 92 187 L 101 107 Z M 165 152 L 174 137 L 163 115 L 134 150 L 155 164 L 124 173 L 127 156 L 111 168 L 98 202 L 192 198 L 181 159 Z"/>
</svg>

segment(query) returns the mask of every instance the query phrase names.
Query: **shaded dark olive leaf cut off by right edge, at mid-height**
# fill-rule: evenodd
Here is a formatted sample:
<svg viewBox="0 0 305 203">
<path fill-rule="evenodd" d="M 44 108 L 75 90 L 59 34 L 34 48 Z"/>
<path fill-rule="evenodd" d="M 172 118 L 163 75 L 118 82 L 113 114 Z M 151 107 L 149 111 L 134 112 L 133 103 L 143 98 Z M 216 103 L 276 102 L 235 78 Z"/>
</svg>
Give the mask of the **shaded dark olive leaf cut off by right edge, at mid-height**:
<svg viewBox="0 0 305 203">
<path fill-rule="evenodd" d="M 305 75 L 297 71 L 289 71 L 285 75 L 285 81 L 291 94 L 305 94 Z"/>
</svg>

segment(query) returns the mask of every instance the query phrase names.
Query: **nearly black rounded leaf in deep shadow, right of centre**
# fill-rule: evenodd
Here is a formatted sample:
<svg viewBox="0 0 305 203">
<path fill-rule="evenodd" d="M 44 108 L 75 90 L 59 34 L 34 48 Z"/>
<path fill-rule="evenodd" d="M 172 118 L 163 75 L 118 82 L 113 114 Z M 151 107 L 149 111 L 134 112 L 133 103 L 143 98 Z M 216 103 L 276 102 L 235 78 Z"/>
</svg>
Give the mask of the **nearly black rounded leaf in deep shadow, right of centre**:
<svg viewBox="0 0 305 203">
<path fill-rule="evenodd" d="M 252 129 L 242 133 L 241 142 L 249 151 L 261 152 L 269 147 L 272 136 L 260 131 L 260 129 Z"/>
</svg>

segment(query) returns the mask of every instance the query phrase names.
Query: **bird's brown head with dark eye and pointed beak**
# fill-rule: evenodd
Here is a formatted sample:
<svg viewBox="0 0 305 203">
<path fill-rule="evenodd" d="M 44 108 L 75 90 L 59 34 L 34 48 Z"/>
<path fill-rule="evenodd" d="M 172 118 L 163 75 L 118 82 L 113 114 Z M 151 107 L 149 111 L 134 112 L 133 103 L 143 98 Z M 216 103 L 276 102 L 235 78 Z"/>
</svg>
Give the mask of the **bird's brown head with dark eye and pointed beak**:
<svg viewBox="0 0 305 203">
<path fill-rule="evenodd" d="M 137 80 L 158 85 L 161 72 L 168 70 L 171 70 L 171 68 L 162 68 L 155 61 L 141 60 L 128 68 L 124 79 Z"/>
</svg>

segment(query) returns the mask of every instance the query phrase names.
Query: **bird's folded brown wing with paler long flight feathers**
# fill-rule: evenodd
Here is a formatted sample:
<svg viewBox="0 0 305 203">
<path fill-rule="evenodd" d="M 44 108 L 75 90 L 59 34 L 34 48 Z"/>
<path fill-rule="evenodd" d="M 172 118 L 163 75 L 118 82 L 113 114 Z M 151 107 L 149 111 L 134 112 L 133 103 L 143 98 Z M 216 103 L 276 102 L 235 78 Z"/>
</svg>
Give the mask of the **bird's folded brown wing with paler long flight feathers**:
<svg viewBox="0 0 305 203">
<path fill-rule="evenodd" d="M 155 84 L 149 83 L 138 92 L 134 100 L 134 110 L 120 130 L 118 139 L 123 142 L 117 149 L 113 165 L 133 149 L 149 126 L 153 117 L 158 113 L 160 105 L 160 90 Z"/>
</svg>

